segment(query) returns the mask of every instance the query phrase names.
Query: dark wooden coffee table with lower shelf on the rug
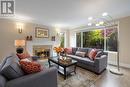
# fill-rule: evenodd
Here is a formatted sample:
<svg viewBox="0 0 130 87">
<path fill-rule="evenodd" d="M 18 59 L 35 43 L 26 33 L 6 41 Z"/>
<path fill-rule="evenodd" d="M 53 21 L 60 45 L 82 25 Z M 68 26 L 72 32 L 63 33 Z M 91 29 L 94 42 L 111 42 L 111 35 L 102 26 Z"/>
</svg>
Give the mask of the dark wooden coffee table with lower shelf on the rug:
<svg viewBox="0 0 130 87">
<path fill-rule="evenodd" d="M 72 59 L 71 62 L 64 64 L 63 62 L 60 62 L 59 57 L 56 56 L 56 57 L 48 58 L 48 63 L 49 63 L 49 67 L 56 66 L 58 72 L 64 76 L 64 79 L 66 79 L 66 77 L 73 72 L 76 74 L 76 65 L 77 65 L 76 60 Z"/>
</svg>

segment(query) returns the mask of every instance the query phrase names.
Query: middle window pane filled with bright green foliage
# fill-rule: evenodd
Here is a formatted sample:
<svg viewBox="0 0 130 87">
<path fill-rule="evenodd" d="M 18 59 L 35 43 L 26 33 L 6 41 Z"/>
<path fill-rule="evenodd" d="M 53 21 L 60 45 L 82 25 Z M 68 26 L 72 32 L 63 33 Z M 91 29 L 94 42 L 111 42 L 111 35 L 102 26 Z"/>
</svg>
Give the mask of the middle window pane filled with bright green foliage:
<svg viewBox="0 0 130 87">
<path fill-rule="evenodd" d="M 103 30 L 83 32 L 83 47 L 104 49 Z"/>
</svg>

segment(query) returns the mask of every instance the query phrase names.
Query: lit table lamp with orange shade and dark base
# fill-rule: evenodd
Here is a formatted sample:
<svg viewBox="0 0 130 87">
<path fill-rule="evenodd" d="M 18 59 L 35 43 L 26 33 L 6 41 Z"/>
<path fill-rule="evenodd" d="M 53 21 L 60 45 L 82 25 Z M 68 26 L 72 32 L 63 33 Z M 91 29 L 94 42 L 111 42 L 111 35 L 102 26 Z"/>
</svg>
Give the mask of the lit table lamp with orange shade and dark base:
<svg viewBox="0 0 130 87">
<path fill-rule="evenodd" d="M 21 54 L 24 51 L 25 40 L 15 40 L 16 52 Z"/>
</svg>

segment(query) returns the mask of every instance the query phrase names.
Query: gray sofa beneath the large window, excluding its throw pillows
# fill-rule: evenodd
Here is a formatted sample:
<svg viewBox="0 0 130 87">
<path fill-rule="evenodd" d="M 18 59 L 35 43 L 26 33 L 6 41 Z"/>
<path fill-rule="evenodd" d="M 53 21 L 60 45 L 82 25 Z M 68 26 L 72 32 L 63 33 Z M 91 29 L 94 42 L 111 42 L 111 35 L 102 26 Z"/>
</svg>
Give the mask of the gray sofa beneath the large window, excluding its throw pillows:
<svg viewBox="0 0 130 87">
<path fill-rule="evenodd" d="M 76 55 L 76 51 L 88 53 L 91 49 L 92 48 L 72 48 L 72 54 L 68 54 L 67 56 L 77 60 L 78 66 L 93 71 L 96 74 L 100 74 L 107 67 L 107 53 L 103 52 L 103 50 L 101 49 L 98 49 L 102 51 L 102 54 L 98 56 L 95 60 L 91 60 L 90 58 L 87 58 L 87 56 L 80 57 Z"/>
</svg>

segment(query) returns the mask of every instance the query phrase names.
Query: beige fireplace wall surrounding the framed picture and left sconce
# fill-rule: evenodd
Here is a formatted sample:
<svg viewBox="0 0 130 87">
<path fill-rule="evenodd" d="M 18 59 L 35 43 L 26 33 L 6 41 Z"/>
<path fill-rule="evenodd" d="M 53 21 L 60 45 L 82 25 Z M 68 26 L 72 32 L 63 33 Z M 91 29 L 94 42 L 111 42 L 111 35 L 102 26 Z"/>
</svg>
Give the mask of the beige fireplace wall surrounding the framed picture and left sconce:
<svg viewBox="0 0 130 87">
<path fill-rule="evenodd" d="M 59 45 L 58 37 L 56 41 L 51 41 L 51 36 L 57 35 L 55 28 L 23 22 L 23 33 L 19 34 L 16 28 L 17 22 L 21 21 L 0 19 L 0 61 L 8 54 L 15 52 L 14 40 L 25 39 L 27 35 L 33 36 L 33 41 L 27 42 L 27 51 L 30 54 L 32 54 L 32 45 Z M 49 38 L 35 38 L 35 27 L 48 28 Z"/>
</svg>

